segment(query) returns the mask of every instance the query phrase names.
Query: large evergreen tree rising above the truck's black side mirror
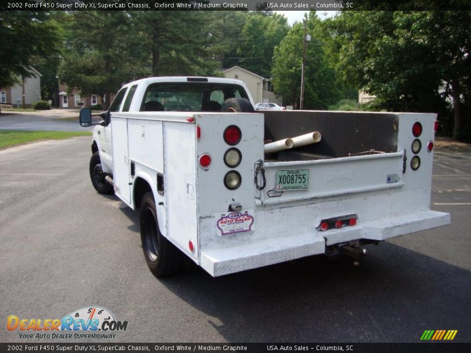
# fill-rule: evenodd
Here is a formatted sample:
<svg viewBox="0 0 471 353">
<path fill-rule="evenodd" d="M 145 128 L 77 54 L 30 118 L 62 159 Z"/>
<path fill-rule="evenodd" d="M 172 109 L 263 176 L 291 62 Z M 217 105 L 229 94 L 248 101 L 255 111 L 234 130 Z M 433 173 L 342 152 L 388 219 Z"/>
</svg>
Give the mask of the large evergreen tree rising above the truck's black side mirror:
<svg viewBox="0 0 471 353">
<path fill-rule="evenodd" d="M 106 107 L 123 83 L 147 76 L 126 12 L 77 11 L 68 15 L 66 29 L 67 49 L 58 76 L 69 91 L 105 97 Z"/>
</svg>

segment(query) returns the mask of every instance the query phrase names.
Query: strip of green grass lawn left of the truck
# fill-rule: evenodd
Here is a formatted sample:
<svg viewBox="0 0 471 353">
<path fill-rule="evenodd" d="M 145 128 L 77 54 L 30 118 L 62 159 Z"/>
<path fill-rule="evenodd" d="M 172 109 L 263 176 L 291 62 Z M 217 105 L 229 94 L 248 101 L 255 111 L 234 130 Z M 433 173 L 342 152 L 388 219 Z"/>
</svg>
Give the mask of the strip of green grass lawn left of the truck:
<svg viewBox="0 0 471 353">
<path fill-rule="evenodd" d="M 23 131 L 23 130 L 0 130 L 0 149 L 23 145 L 28 142 L 44 140 L 63 140 L 76 136 L 91 136 L 88 131 Z"/>
</svg>

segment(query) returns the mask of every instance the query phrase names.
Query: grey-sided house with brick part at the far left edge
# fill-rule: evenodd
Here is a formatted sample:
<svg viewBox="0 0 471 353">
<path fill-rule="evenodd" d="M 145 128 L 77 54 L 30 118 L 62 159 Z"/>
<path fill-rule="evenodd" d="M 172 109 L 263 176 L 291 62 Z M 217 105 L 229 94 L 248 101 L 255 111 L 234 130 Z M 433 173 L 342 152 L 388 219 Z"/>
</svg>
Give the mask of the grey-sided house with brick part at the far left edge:
<svg viewBox="0 0 471 353">
<path fill-rule="evenodd" d="M 32 74 L 11 87 L 0 88 L 0 103 L 3 105 L 30 107 L 35 101 L 41 101 L 41 74 L 32 66 L 27 70 Z M 25 100 L 23 101 L 23 97 Z"/>
</svg>

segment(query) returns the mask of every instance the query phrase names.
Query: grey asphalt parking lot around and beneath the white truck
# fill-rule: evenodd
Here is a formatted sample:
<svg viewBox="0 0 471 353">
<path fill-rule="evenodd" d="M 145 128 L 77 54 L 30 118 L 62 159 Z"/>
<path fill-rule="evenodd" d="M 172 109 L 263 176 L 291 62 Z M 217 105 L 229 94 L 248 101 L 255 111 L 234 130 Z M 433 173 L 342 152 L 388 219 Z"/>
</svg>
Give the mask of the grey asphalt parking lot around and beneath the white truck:
<svg viewBox="0 0 471 353">
<path fill-rule="evenodd" d="M 425 329 L 471 339 L 469 151 L 435 151 L 431 208 L 452 224 L 370 246 L 360 267 L 311 257 L 162 280 L 137 213 L 91 186 L 90 154 L 89 137 L 0 151 L 0 342 L 21 341 L 9 315 L 89 305 L 129 321 L 115 342 L 418 342 Z"/>
</svg>

